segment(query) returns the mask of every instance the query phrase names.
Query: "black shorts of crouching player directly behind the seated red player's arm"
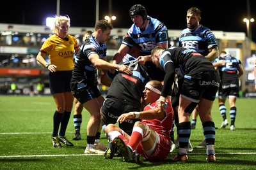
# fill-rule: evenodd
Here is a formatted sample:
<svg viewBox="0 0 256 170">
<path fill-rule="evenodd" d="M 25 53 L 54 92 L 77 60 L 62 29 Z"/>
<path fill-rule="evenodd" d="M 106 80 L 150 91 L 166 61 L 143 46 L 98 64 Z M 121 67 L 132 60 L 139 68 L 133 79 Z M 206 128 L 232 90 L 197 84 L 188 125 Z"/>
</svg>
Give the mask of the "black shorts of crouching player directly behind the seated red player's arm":
<svg viewBox="0 0 256 170">
<path fill-rule="evenodd" d="M 122 113 L 129 113 L 130 111 L 141 111 L 141 108 L 138 104 L 107 96 L 101 108 L 102 125 L 116 124 L 117 118 L 122 115 Z M 140 119 L 127 120 L 119 124 L 119 127 L 127 134 L 131 135 L 133 125 L 137 121 L 140 121 Z"/>
</svg>

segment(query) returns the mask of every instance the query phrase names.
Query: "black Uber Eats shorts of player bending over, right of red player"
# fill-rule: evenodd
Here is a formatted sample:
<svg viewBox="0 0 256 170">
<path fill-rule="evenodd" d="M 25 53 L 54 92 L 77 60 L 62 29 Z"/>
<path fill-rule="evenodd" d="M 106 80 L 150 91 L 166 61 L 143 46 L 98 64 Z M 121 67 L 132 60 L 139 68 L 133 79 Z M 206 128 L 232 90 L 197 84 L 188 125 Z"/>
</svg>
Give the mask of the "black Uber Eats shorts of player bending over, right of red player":
<svg viewBox="0 0 256 170">
<path fill-rule="evenodd" d="M 180 89 L 180 95 L 198 103 L 201 98 L 214 101 L 220 87 L 217 71 L 204 71 L 191 76 L 186 75 Z"/>
</svg>

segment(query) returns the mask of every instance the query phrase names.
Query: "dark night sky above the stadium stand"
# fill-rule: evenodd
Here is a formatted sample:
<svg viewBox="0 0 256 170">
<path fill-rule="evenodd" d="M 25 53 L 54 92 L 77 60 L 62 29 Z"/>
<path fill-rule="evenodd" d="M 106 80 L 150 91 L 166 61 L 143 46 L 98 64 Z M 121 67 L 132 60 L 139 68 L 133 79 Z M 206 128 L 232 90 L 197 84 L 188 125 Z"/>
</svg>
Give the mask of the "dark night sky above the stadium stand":
<svg viewBox="0 0 256 170">
<path fill-rule="evenodd" d="M 156 1 L 157 2 L 157 1 Z M 116 20 L 112 22 L 116 28 L 129 28 L 132 24 L 129 17 L 129 9 L 133 4 L 143 4 L 148 15 L 161 20 L 168 29 L 186 28 L 186 11 L 191 6 L 202 10 L 201 24 L 212 31 L 246 32 L 247 0 L 183 0 L 183 1 L 122 1 L 112 0 L 112 15 Z M 256 1 L 250 2 L 250 16 L 256 19 Z M 172 5 L 168 5 L 171 3 Z M 2 6 L 0 11 L 0 23 L 44 25 L 46 17 L 56 14 L 57 0 L 29 1 L 16 0 L 5 1 L 6 8 Z M 68 15 L 71 27 L 93 27 L 95 24 L 95 4 L 91 1 L 60 0 L 60 15 Z M 108 15 L 108 0 L 99 0 L 99 19 Z M 252 37 L 256 40 L 256 22 L 252 24 Z"/>
</svg>

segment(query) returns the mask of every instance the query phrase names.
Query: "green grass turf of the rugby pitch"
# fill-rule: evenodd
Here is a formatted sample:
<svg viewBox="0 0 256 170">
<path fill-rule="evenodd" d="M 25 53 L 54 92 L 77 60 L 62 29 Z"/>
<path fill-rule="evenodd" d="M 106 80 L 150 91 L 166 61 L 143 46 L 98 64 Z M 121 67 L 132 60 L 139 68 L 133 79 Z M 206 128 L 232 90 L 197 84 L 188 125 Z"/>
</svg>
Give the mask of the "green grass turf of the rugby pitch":
<svg viewBox="0 0 256 170">
<path fill-rule="evenodd" d="M 198 118 L 196 129 L 191 130 L 194 150 L 188 155 L 189 162 L 170 162 L 178 151 L 176 149 L 163 162 L 143 162 L 139 165 L 123 162 L 120 157 L 106 160 L 103 155 L 84 154 L 89 118 L 86 110 L 83 110 L 82 140 L 72 140 L 74 122 L 71 115 L 66 136 L 74 147 L 53 148 L 51 132 L 55 104 L 51 96 L 0 96 L 0 169 L 256 169 L 254 104 L 256 99 L 237 99 L 236 131 L 230 131 L 229 125 L 220 129 L 222 118 L 218 100 L 214 101 L 212 118 L 218 127 L 216 163 L 205 160 L 205 149 L 195 148 L 204 139 Z M 229 113 L 227 117 L 230 123 Z M 103 133 L 100 142 L 107 145 Z"/>
</svg>

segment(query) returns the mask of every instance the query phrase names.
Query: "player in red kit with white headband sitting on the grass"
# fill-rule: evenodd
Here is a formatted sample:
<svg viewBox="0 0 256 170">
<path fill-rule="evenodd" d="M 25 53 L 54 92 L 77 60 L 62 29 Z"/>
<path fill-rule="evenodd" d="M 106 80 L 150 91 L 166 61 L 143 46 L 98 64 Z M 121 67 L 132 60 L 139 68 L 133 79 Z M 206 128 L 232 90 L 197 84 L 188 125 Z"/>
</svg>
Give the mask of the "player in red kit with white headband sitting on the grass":
<svg viewBox="0 0 256 170">
<path fill-rule="evenodd" d="M 122 153 L 125 162 L 140 163 L 143 157 L 149 161 L 161 161 L 170 153 L 173 108 L 168 99 L 164 109 L 157 107 L 162 89 L 160 81 L 148 81 L 143 90 L 148 103 L 144 110 L 124 113 L 118 117 L 117 122 L 121 124 L 132 118 L 141 119 L 141 122 L 134 124 L 131 136 L 114 124 L 105 127 L 106 134 Z"/>
</svg>

